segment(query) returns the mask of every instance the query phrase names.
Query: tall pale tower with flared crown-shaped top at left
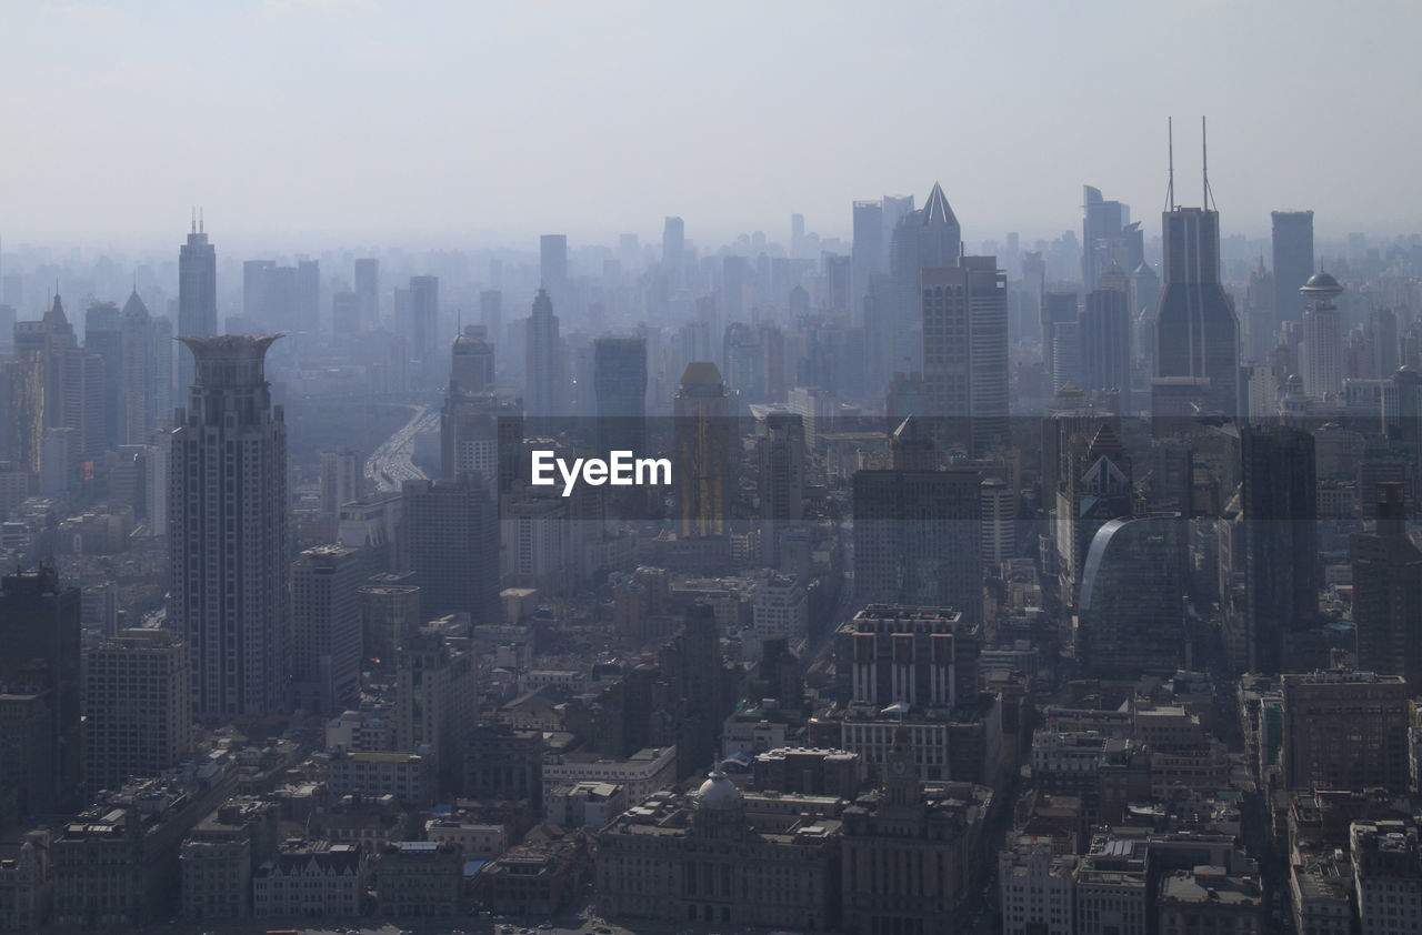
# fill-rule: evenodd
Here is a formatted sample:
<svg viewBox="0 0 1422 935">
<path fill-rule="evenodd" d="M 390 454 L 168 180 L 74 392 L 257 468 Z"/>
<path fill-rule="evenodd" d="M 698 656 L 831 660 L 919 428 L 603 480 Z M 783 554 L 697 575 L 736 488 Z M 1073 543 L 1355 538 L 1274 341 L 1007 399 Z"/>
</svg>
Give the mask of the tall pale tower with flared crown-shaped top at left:
<svg viewBox="0 0 1422 935">
<path fill-rule="evenodd" d="M 168 627 L 192 652 L 202 719 L 287 709 L 286 422 L 263 372 L 274 340 L 182 338 L 196 372 L 171 435 Z"/>
</svg>

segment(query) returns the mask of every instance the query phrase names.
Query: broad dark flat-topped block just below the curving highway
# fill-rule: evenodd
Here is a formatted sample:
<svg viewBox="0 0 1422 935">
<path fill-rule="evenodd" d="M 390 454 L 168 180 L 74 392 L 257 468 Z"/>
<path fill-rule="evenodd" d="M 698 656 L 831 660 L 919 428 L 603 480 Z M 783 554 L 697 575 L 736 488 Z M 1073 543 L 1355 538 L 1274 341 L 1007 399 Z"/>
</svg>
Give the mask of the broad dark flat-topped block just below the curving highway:
<svg viewBox="0 0 1422 935">
<path fill-rule="evenodd" d="M 499 524 L 486 483 L 462 473 L 454 480 L 407 480 L 404 550 L 419 587 L 419 614 L 498 617 Z"/>
</svg>

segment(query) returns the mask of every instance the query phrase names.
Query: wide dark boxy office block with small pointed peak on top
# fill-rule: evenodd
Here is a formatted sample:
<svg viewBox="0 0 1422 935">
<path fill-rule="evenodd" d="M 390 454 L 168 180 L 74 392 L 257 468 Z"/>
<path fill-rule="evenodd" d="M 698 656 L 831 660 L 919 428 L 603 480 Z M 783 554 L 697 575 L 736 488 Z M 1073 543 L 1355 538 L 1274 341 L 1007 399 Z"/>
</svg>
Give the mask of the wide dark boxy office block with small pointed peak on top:
<svg viewBox="0 0 1422 935">
<path fill-rule="evenodd" d="M 934 470 L 933 439 L 916 416 L 892 439 L 893 466 L 853 479 L 855 600 L 983 614 L 977 470 Z"/>
</svg>

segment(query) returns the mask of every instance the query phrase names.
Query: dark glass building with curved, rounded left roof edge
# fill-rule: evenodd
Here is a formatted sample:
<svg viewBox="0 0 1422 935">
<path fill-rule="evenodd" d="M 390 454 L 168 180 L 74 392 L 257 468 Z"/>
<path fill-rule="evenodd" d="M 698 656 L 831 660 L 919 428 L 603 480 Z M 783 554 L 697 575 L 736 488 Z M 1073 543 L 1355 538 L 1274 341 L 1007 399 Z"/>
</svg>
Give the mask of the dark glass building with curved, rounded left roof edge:
<svg viewBox="0 0 1422 935">
<path fill-rule="evenodd" d="M 1091 540 L 1076 601 L 1076 658 L 1095 678 L 1167 675 L 1182 654 L 1187 523 L 1113 519 Z"/>
</svg>

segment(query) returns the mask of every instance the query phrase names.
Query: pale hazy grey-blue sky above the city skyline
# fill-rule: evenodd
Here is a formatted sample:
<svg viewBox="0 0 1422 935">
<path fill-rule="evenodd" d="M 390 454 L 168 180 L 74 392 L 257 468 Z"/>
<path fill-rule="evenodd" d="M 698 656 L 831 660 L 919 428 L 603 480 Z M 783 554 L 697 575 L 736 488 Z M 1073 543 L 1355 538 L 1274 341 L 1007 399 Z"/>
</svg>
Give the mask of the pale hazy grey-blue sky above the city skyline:
<svg viewBox="0 0 1422 935">
<path fill-rule="evenodd" d="M 1422 3 L 0 0 L 0 236 L 848 236 L 943 183 L 968 243 L 1159 233 L 1166 115 L 1226 233 L 1422 230 Z M 493 234 L 498 234 L 496 237 Z M 533 247 L 533 243 L 528 244 Z"/>
</svg>

